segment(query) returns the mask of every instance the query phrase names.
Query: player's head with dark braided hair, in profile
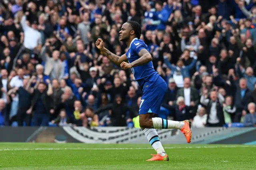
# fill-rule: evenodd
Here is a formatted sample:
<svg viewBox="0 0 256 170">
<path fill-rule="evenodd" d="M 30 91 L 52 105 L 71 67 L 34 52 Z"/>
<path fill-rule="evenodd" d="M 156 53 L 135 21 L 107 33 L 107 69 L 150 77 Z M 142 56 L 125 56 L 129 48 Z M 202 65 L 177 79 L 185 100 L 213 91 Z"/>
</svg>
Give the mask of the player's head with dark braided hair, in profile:
<svg viewBox="0 0 256 170">
<path fill-rule="evenodd" d="M 121 31 L 119 32 L 119 40 L 121 42 L 127 42 L 131 38 L 140 39 L 140 35 L 141 35 L 140 24 L 135 21 L 128 21 L 122 25 Z"/>
</svg>

